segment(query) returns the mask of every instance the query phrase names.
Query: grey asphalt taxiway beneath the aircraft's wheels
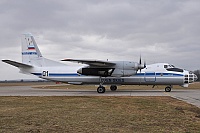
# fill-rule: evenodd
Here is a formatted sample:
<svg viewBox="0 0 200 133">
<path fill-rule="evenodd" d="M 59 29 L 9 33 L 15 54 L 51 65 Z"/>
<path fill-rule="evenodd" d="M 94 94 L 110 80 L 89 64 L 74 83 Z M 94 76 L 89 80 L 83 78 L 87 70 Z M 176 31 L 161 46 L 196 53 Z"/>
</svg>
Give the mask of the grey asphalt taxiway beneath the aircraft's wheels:
<svg viewBox="0 0 200 133">
<path fill-rule="evenodd" d="M 31 86 L 0 87 L 0 96 L 171 96 L 200 108 L 200 90 L 107 90 L 99 94 L 96 90 L 37 89 Z"/>
</svg>

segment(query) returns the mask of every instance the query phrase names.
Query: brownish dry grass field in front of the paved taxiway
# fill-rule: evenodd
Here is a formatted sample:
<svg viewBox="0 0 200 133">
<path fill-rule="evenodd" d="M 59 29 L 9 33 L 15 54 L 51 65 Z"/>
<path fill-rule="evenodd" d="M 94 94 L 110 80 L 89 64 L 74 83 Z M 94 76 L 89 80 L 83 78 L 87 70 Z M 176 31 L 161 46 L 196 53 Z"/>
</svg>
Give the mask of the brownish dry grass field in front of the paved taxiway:
<svg viewBox="0 0 200 133">
<path fill-rule="evenodd" d="M 0 97 L 0 132 L 200 132 L 200 109 L 171 97 Z"/>
</svg>

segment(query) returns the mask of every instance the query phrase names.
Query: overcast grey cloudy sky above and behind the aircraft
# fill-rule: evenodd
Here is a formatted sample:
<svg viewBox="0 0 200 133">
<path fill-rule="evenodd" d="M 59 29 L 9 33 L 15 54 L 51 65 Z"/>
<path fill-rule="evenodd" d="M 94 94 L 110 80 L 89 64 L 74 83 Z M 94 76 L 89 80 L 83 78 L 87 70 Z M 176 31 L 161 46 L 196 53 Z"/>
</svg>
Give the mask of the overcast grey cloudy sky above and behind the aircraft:
<svg viewBox="0 0 200 133">
<path fill-rule="evenodd" d="M 200 69 L 199 0 L 1 0 L 0 57 L 21 62 L 30 32 L 44 57 L 167 62 Z M 34 78 L 0 62 L 0 80 Z"/>
</svg>

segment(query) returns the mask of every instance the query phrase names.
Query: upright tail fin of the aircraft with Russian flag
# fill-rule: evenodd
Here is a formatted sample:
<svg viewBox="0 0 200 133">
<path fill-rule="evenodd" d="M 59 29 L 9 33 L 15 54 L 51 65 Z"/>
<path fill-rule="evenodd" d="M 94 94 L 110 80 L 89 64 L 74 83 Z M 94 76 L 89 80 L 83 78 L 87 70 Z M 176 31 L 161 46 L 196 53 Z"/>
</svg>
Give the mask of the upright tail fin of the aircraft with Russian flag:
<svg viewBox="0 0 200 133">
<path fill-rule="evenodd" d="M 39 65 L 38 61 L 41 60 L 42 54 L 35 42 L 31 33 L 22 35 L 22 62 L 28 65 Z"/>
</svg>

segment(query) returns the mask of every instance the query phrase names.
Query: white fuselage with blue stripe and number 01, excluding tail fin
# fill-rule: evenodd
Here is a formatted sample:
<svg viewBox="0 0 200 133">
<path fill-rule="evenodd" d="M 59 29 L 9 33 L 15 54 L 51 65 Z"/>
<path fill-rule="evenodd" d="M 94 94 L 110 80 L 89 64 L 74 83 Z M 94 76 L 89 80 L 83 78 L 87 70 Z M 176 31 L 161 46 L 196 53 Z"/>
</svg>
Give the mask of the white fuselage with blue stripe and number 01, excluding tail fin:
<svg viewBox="0 0 200 133">
<path fill-rule="evenodd" d="M 167 63 L 147 65 L 141 72 L 137 71 L 136 74 L 128 77 L 85 76 L 77 73 L 80 68 L 82 66 L 35 67 L 27 73 L 52 81 L 95 85 L 103 82 L 108 85 L 181 85 L 187 87 L 189 83 L 197 79 L 192 72 L 175 68 Z"/>
</svg>

